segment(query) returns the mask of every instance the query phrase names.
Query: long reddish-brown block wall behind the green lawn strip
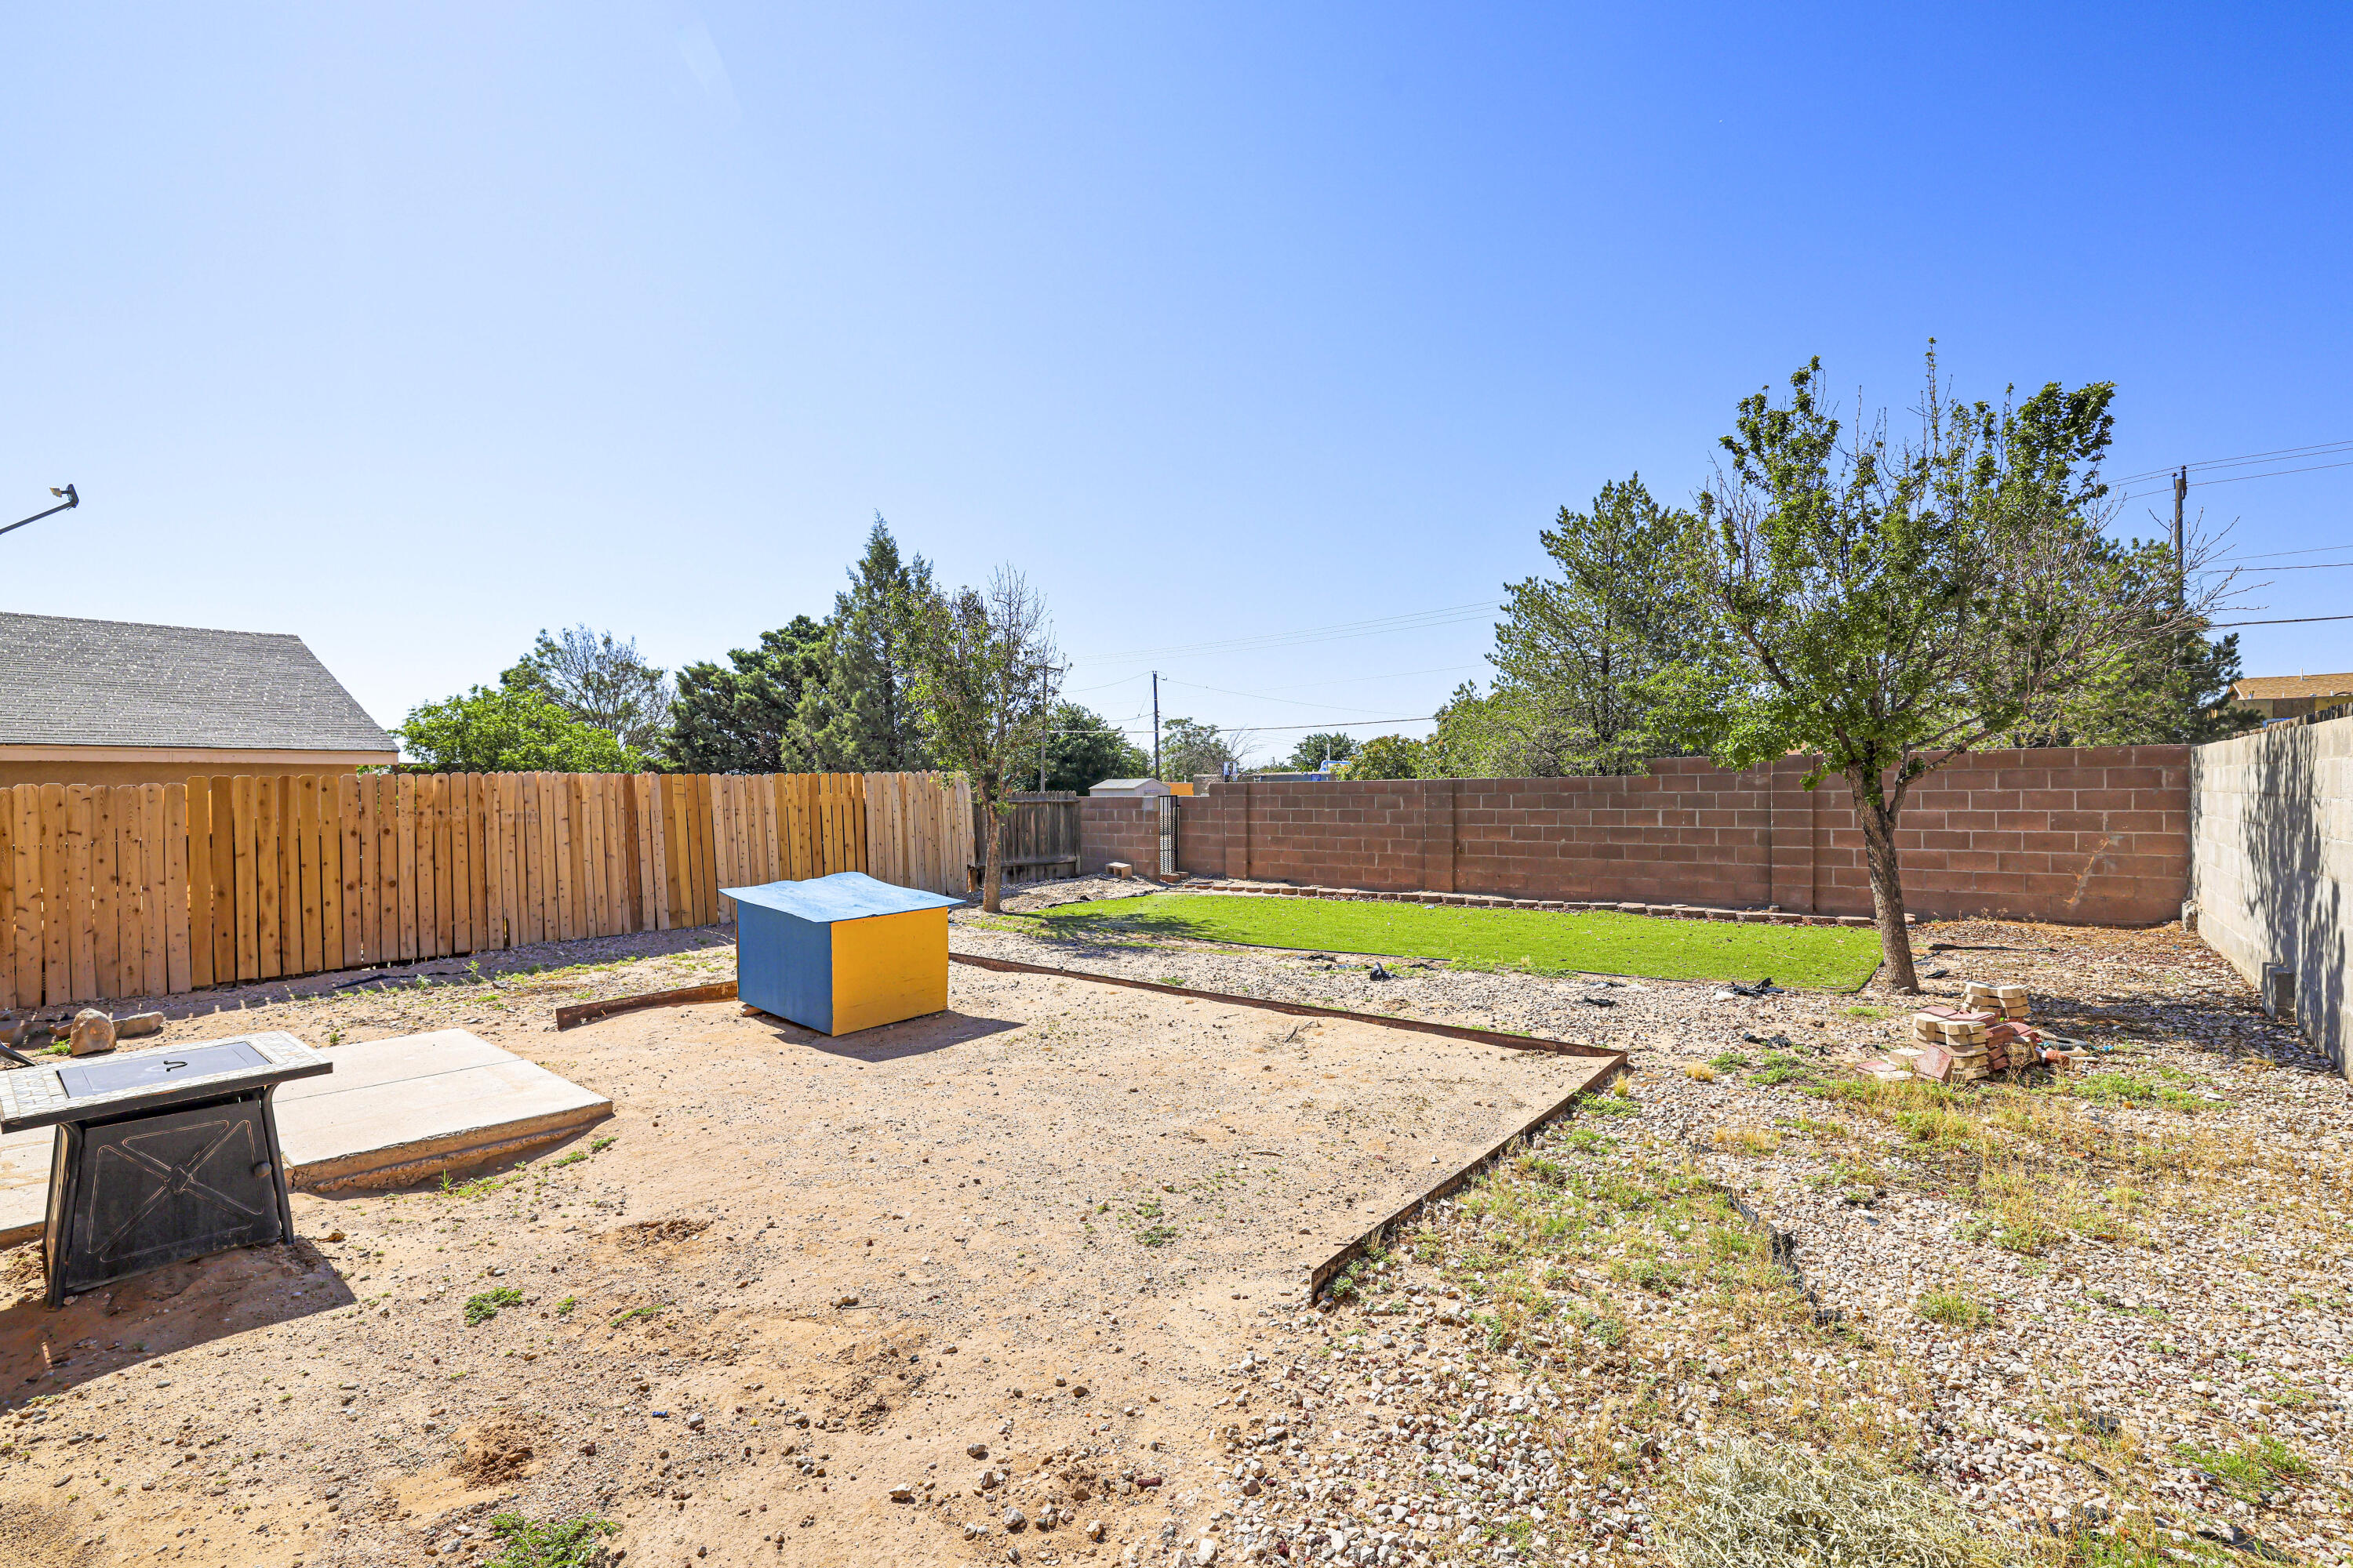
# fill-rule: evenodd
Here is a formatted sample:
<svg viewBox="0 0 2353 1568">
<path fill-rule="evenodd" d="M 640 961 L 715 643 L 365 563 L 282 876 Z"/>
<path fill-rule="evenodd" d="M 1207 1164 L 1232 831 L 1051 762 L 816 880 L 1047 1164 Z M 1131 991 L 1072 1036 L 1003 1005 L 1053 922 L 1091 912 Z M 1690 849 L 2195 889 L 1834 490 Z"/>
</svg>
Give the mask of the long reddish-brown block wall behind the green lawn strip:
<svg viewBox="0 0 2353 1568">
<path fill-rule="evenodd" d="M 1673 757 L 1640 778 L 1219 783 L 1179 799 L 1176 865 L 1381 891 L 1868 914 L 1847 788 L 1826 778 L 1805 790 L 1807 766 L 1729 773 Z M 1122 837 L 1111 851 L 1113 818 L 1096 806 L 1118 804 L 1089 802 L 1087 863 L 1144 867 L 1155 849 Z M 2188 748 L 1967 757 L 1913 785 L 1897 849 L 1918 914 L 2177 919 L 2188 884 Z"/>
</svg>

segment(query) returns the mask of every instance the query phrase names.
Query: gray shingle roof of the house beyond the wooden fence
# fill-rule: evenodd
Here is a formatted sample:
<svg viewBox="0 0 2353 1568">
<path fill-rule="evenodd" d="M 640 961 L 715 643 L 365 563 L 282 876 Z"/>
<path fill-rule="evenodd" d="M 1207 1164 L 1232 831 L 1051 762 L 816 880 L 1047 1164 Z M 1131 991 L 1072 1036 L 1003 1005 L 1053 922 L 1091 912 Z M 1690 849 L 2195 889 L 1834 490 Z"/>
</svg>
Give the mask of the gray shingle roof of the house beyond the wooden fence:
<svg viewBox="0 0 2353 1568">
<path fill-rule="evenodd" d="M 395 750 L 301 637 L 12 614 L 0 745 Z"/>
</svg>

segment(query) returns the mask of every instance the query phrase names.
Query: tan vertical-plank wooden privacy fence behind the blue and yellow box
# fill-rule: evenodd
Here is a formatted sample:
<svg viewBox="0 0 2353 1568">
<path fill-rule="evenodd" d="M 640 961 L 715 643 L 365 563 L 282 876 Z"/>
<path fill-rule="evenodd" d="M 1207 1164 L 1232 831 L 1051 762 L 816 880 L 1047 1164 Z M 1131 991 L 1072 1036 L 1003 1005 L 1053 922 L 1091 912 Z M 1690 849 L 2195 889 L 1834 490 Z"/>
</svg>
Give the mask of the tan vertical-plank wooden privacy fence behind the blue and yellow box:
<svg viewBox="0 0 2353 1568">
<path fill-rule="evenodd" d="M 939 773 L 296 773 L 0 788 L 0 1006 L 704 926 L 722 886 L 965 891 Z"/>
</svg>

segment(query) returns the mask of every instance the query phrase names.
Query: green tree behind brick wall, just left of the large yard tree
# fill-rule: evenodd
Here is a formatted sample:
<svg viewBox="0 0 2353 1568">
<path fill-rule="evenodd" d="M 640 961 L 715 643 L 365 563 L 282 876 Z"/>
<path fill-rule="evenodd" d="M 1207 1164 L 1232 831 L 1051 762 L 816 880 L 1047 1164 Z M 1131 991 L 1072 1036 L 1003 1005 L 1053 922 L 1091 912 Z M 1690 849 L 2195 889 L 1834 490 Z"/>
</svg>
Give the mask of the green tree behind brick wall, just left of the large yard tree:
<svg viewBox="0 0 2353 1568">
<path fill-rule="evenodd" d="M 1642 475 L 1602 484 L 1593 510 L 1544 529 L 1558 576 L 1504 588 L 1489 656 L 1529 764 L 1544 773 L 1640 773 L 1678 750 L 1654 682 L 1689 656 L 1701 607 L 1678 569 L 1689 512 L 1661 508 Z"/>
</svg>

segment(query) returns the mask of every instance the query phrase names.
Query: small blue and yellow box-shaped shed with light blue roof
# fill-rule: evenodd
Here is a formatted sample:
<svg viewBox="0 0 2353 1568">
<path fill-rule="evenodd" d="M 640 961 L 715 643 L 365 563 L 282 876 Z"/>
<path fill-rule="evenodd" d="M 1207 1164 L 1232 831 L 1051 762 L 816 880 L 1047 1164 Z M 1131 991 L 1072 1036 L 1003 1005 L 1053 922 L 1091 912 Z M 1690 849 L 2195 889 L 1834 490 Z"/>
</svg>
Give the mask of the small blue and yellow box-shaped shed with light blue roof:
<svg viewBox="0 0 2353 1568">
<path fill-rule="evenodd" d="M 948 910 L 960 900 L 835 872 L 722 889 L 736 900 L 736 997 L 819 1034 L 948 1006 Z"/>
</svg>

